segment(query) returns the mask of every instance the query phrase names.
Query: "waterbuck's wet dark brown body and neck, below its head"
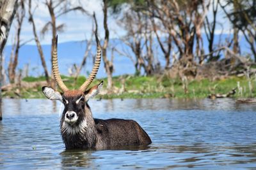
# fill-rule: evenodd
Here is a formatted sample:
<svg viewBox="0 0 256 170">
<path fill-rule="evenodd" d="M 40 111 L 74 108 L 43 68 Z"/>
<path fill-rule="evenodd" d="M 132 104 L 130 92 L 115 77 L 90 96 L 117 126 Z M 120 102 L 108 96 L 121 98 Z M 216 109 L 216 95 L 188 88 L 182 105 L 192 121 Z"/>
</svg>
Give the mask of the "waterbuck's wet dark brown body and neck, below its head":
<svg viewBox="0 0 256 170">
<path fill-rule="evenodd" d="M 92 117 L 86 103 L 85 113 L 78 113 L 76 124 L 70 126 L 61 118 L 61 136 L 67 149 L 107 149 L 116 146 L 138 146 L 151 143 L 148 134 L 134 120 Z M 65 112 L 64 112 L 65 113 Z M 72 129 L 72 131 L 68 131 Z"/>
</svg>

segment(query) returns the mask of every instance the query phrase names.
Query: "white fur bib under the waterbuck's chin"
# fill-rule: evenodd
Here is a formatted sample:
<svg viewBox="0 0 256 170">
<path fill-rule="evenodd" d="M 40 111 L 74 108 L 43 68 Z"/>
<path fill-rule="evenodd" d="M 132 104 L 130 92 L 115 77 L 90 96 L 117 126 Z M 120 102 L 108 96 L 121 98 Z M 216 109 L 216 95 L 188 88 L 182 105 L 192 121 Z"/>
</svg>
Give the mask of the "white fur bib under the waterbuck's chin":
<svg viewBox="0 0 256 170">
<path fill-rule="evenodd" d="M 86 132 L 87 127 L 88 125 L 87 125 L 86 118 L 84 118 L 84 120 L 79 125 L 75 125 L 75 126 L 72 126 L 64 121 L 61 125 L 61 132 L 65 134 L 74 135 L 74 134 Z"/>
</svg>

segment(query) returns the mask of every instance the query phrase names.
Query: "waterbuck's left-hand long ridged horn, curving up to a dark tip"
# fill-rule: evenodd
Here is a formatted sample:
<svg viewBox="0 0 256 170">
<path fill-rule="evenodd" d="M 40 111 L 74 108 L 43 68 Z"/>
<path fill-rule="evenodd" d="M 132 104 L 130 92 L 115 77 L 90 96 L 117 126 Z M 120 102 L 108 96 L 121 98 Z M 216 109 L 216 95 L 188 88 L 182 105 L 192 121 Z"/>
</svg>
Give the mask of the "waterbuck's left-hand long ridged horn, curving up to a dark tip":
<svg viewBox="0 0 256 170">
<path fill-rule="evenodd" d="M 52 52 L 52 73 L 54 76 L 54 79 L 57 82 L 58 87 L 65 92 L 68 90 L 66 85 L 61 80 L 59 66 L 58 66 L 58 55 L 57 55 L 57 46 L 58 46 L 58 35 L 56 36 L 56 41 L 53 46 L 53 52 Z"/>
</svg>

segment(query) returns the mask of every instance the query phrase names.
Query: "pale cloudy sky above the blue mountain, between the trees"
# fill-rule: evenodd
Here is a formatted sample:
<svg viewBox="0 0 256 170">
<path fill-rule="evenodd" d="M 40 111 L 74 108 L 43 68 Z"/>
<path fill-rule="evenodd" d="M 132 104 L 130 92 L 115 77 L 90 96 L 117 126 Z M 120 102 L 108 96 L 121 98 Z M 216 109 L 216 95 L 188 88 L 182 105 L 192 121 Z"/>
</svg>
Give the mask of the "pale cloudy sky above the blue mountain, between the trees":
<svg viewBox="0 0 256 170">
<path fill-rule="evenodd" d="M 77 0 L 70 0 L 71 3 L 76 6 Z M 216 1 L 216 0 L 213 0 Z M 40 30 L 44 27 L 45 23 L 47 23 L 51 18 L 49 15 L 49 11 L 47 10 L 47 6 L 42 3 L 42 0 L 32 1 L 33 8 L 35 9 L 34 20 L 36 23 L 36 30 L 38 35 L 40 35 Z M 102 0 L 80 0 L 83 8 L 88 11 L 92 15 L 93 11 L 96 13 L 96 17 L 99 25 L 99 38 L 104 38 L 104 27 L 103 27 L 103 12 L 102 12 Z M 38 5 L 36 5 L 38 4 Z M 37 7 L 36 7 L 37 6 Z M 28 6 L 26 5 L 28 9 Z M 223 19 L 223 12 L 218 13 L 218 22 L 223 24 L 225 30 L 222 30 L 220 25 L 217 25 L 216 33 L 219 34 L 222 31 L 224 33 L 230 33 L 230 23 L 227 18 Z M 212 18 L 212 7 L 209 8 L 209 18 Z M 124 29 L 119 27 L 116 24 L 116 17 L 109 15 L 108 18 L 108 27 L 110 31 L 110 38 L 118 38 L 125 34 Z M 63 15 L 58 18 L 57 24 L 65 24 L 64 32 L 58 32 L 58 42 L 63 43 L 67 41 L 83 41 L 84 39 L 89 39 L 92 34 L 92 25 L 93 20 L 92 17 L 88 15 L 84 15 L 79 11 L 70 12 L 67 15 Z M 12 45 L 14 36 L 15 36 L 15 28 L 17 27 L 17 22 L 13 20 L 13 25 L 10 30 L 9 38 L 7 45 Z M 203 31 L 203 30 L 202 30 Z M 203 31 L 204 32 L 204 31 Z M 28 22 L 28 13 L 26 14 L 26 18 L 24 19 L 24 23 L 22 25 L 22 32 L 20 35 L 22 41 L 28 41 L 28 39 L 34 38 L 32 25 Z M 42 45 L 51 44 L 51 32 L 47 32 L 44 37 L 40 35 L 40 42 Z M 35 41 L 30 41 L 28 45 L 35 45 Z"/>
</svg>

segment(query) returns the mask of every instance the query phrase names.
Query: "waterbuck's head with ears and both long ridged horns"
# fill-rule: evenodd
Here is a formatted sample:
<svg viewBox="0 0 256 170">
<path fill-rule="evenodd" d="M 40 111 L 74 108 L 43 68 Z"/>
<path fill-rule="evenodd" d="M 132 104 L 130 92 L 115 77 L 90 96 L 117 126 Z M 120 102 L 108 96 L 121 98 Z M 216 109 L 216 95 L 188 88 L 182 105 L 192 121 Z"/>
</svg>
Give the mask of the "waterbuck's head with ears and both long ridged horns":
<svg viewBox="0 0 256 170">
<path fill-rule="evenodd" d="M 59 100 L 61 101 L 61 103 L 64 104 L 65 108 L 61 117 L 61 124 L 69 126 L 81 124 L 86 118 L 86 108 L 88 108 L 89 110 L 89 113 L 87 114 L 92 115 L 87 102 L 91 97 L 94 97 L 99 93 L 99 90 L 102 88 L 103 85 L 103 81 L 101 81 L 99 85 L 96 85 L 91 89 L 87 90 L 88 86 L 95 78 L 100 66 L 101 48 L 99 39 L 97 38 L 97 34 L 95 34 L 95 38 L 97 41 L 97 56 L 92 69 L 92 73 L 90 73 L 90 76 L 86 79 L 86 81 L 84 81 L 83 85 L 81 85 L 79 89 L 69 90 L 61 80 L 60 76 L 57 55 L 58 36 L 56 37 L 56 43 L 54 44 L 54 50 L 52 53 L 52 73 L 58 87 L 60 87 L 62 92 L 55 91 L 51 87 L 42 87 L 42 91 L 48 99 Z"/>
</svg>

